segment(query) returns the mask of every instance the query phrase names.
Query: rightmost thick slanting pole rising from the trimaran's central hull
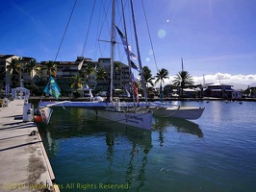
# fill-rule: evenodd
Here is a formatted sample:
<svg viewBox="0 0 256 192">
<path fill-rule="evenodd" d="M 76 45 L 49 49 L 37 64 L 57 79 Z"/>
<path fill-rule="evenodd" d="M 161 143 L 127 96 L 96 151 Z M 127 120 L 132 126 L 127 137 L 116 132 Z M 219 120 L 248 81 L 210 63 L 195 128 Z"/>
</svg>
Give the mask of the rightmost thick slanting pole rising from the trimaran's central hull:
<svg viewBox="0 0 256 192">
<path fill-rule="evenodd" d="M 137 47 L 138 61 L 139 61 L 139 67 L 140 67 L 140 73 L 141 73 L 141 83 L 142 83 L 142 87 L 143 87 L 145 102 L 147 103 L 146 87 L 145 87 L 145 80 L 144 80 L 144 70 L 143 70 L 142 64 L 141 64 L 141 54 L 140 54 L 139 40 L 138 40 L 136 24 L 135 24 L 133 0 L 130 0 L 130 2 L 131 2 L 131 9 L 132 9 L 132 17 L 133 17 L 134 34 L 135 34 L 135 41 L 136 41 L 136 47 Z"/>
</svg>

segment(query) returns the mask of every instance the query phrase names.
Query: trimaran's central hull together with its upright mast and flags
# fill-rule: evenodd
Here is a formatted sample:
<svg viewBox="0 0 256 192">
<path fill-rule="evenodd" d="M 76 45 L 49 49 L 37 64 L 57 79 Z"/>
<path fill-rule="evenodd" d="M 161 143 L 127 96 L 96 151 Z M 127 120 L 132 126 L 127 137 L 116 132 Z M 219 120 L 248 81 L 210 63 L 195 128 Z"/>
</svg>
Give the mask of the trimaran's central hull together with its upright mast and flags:
<svg viewBox="0 0 256 192">
<path fill-rule="evenodd" d="M 132 1 L 131 1 L 132 5 Z M 132 6 L 131 6 L 132 7 Z M 133 7 L 132 7 L 133 12 Z M 134 13 L 133 13 L 134 16 Z M 124 20 L 124 27 L 125 27 L 125 19 Z M 136 35 L 136 27 L 134 23 L 135 28 L 135 36 Z M 120 30 L 115 26 L 115 0 L 112 2 L 112 36 L 111 36 L 111 78 L 110 78 L 110 98 L 109 103 L 106 103 L 106 108 L 91 108 L 90 112 L 98 117 L 103 117 L 105 119 L 108 119 L 110 121 L 118 122 L 127 126 L 132 126 L 136 128 L 140 128 L 143 130 L 151 130 L 152 127 L 152 111 L 149 108 L 144 107 L 138 107 L 134 103 L 133 108 L 125 108 L 121 106 L 119 101 L 113 101 L 113 77 L 114 77 L 114 60 L 115 60 L 115 29 L 117 30 L 118 34 L 121 36 L 122 43 L 125 47 L 125 51 L 127 54 L 128 62 L 130 63 L 130 72 L 131 72 L 131 64 L 132 61 L 130 57 L 133 57 L 134 55 L 130 51 L 130 47 L 127 43 L 127 37 L 124 36 Z M 126 34 L 126 33 L 125 33 Z M 137 47 L 138 46 L 138 39 L 137 39 Z M 140 57 L 140 52 L 138 48 L 138 56 Z M 140 62 L 140 60 L 139 60 Z M 141 69 L 141 63 L 140 63 L 140 69 Z M 141 75 L 141 78 L 142 75 Z M 134 83 L 132 83 L 134 85 Z M 136 90 L 135 90 L 136 92 Z M 145 90 L 144 90 L 145 92 Z M 137 93 L 138 94 L 138 93 Z"/>
</svg>

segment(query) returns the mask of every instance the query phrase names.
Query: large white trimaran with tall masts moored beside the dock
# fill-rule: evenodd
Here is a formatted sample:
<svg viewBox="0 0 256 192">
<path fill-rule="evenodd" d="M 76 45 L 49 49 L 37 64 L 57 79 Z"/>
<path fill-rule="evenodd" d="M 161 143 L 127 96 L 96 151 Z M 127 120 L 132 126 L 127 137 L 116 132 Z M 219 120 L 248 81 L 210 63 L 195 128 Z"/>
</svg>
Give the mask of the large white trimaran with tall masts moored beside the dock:
<svg viewBox="0 0 256 192">
<path fill-rule="evenodd" d="M 132 1 L 131 1 L 131 8 L 132 8 Z M 112 121 L 116 121 L 119 123 L 123 123 L 126 125 L 131 125 L 134 127 L 139 127 L 145 130 L 151 129 L 151 122 L 152 122 L 152 113 L 156 116 L 161 117 L 175 117 L 175 118 L 181 118 L 181 119 L 189 119 L 194 120 L 198 119 L 203 111 L 204 108 L 193 108 L 193 107 L 182 107 L 182 106 L 174 106 L 170 105 L 168 103 L 164 102 L 147 102 L 147 95 L 145 91 L 145 87 L 143 87 L 144 90 L 144 98 L 145 103 L 140 103 L 140 108 L 138 107 L 135 102 L 127 102 L 127 103 L 120 103 L 119 101 L 113 101 L 112 97 L 112 90 L 114 89 L 113 86 L 113 74 L 114 74 L 114 56 L 115 56 L 115 30 L 117 33 L 121 36 L 122 44 L 125 46 L 126 53 L 127 54 L 127 60 L 128 63 L 130 63 L 130 68 L 133 68 L 133 61 L 130 60 L 130 57 L 133 57 L 133 54 L 130 51 L 130 47 L 127 43 L 126 36 L 123 36 L 121 31 L 116 27 L 115 25 L 115 0 L 113 1 L 112 5 L 112 36 L 111 36 L 111 44 L 112 44 L 112 51 L 111 51 L 111 84 L 110 84 L 110 99 L 109 102 L 99 102 L 99 101 L 91 101 L 91 102 L 41 102 L 39 105 L 40 107 L 43 106 L 51 106 L 51 107 L 74 107 L 74 108 L 90 108 L 90 112 L 95 114 L 96 116 L 103 117 L 106 119 L 110 119 Z M 131 9 L 133 12 L 133 9 Z M 134 16 L 134 14 L 133 14 Z M 134 21 L 134 19 L 133 19 Z M 135 23 L 135 22 L 134 22 Z M 136 31 L 136 25 L 134 24 L 134 29 Z M 127 34 L 125 32 L 125 34 Z M 136 32 L 134 33 L 137 34 Z M 135 36 L 137 38 L 137 36 Z M 138 43 L 138 39 L 136 39 L 136 43 Z M 137 52 L 138 52 L 138 60 L 139 60 L 139 71 L 141 73 L 141 81 L 142 85 L 145 85 L 143 83 L 143 70 L 141 67 L 141 57 L 140 57 L 140 51 L 139 46 L 137 45 Z M 132 83 L 132 86 L 134 84 Z M 136 92 L 136 91 L 135 91 Z M 53 104 L 52 104 L 53 103 Z"/>
</svg>

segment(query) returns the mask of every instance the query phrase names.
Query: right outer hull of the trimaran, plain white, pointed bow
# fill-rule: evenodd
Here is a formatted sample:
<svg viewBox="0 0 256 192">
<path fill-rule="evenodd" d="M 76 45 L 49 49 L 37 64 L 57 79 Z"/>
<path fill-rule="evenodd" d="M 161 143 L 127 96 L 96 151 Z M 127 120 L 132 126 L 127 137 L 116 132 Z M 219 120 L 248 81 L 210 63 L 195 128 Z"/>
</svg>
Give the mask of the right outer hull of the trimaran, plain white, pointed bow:
<svg viewBox="0 0 256 192">
<path fill-rule="evenodd" d="M 204 108 L 192 108 L 192 107 L 153 107 L 150 108 L 153 113 L 157 116 L 161 117 L 175 117 L 182 119 L 195 120 L 200 118 L 202 115 Z"/>
</svg>

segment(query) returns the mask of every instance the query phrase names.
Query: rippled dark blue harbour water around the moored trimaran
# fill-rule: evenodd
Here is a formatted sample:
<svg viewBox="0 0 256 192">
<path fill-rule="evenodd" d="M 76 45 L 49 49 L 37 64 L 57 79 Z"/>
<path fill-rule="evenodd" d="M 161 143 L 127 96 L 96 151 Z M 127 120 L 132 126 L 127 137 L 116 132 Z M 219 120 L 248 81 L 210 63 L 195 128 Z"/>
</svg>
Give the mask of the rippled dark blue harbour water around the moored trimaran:
<svg viewBox="0 0 256 192">
<path fill-rule="evenodd" d="M 38 128 L 61 191 L 256 191 L 256 103 L 178 104 L 205 111 L 146 132 L 54 108 Z"/>
</svg>

